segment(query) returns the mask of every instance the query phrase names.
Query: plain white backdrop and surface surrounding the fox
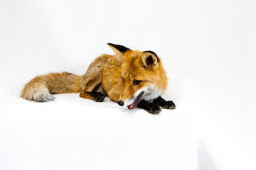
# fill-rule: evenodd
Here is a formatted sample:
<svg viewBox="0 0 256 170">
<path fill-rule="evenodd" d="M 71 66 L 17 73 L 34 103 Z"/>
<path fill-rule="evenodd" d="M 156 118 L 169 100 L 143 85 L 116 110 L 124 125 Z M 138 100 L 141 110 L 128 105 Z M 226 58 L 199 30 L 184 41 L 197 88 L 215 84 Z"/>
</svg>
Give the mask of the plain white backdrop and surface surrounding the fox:
<svg viewBox="0 0 256 170">
<path fill-rule="evenodd" d="M 256 2 L 0 1 L 0 169 L 256 169 Z M 175 111 L 78 94 L 19 98 L 39 74 L 84 74 L 107 42 L 152 50 Z"/>
</svg>

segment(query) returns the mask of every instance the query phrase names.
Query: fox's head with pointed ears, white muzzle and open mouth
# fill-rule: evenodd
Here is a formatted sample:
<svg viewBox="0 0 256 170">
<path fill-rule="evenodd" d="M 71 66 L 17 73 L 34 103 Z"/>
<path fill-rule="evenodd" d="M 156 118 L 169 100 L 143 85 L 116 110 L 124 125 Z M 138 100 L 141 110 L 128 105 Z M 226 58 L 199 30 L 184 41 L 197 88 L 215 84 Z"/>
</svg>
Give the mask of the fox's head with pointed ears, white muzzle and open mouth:
<svg viewBox="0 0 256 170">
<path fill-rule="evenodd" d="M 123 45 L 108 43 L 122 57 L 123 88 L 119 106 L 135 108 L 140 100 L 153 101 L 166 90 L 167 77 L 160 58 L 152 51 L 131 50 Z"/>
</svg>

